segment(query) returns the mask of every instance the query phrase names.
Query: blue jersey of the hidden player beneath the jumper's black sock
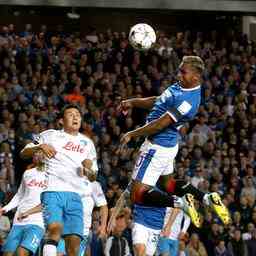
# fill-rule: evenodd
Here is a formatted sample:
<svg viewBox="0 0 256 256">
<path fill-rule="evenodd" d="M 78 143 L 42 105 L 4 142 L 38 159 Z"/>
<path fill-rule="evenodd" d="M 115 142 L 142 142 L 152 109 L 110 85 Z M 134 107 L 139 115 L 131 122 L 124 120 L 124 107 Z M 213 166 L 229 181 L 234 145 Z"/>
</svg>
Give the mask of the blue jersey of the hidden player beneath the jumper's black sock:
<svg viewBox="0 0 256 256">
<path fill-rule="evenodd" d="M 148 207 L 134 204 L 133 220 L 145 227 L 161 230 L 164 225 L 166 208 Z"/>
</svg>

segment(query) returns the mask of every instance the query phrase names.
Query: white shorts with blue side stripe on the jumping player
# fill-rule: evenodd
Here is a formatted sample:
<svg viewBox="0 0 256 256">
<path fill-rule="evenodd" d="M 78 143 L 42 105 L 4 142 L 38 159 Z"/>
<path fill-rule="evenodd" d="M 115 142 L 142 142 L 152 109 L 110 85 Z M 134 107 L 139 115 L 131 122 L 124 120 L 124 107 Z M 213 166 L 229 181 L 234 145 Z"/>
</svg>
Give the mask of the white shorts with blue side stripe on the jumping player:
<svg viewBox="0 0 256 256">
<path fill-rule="evenodd" d="M 161 175 L 173 173 L 174 159 L 178 150 L 178 144 L 175 147 L 167 148 L 145 140 L 140 147 L 132 179 L 155 186 Z"/>
</svg>

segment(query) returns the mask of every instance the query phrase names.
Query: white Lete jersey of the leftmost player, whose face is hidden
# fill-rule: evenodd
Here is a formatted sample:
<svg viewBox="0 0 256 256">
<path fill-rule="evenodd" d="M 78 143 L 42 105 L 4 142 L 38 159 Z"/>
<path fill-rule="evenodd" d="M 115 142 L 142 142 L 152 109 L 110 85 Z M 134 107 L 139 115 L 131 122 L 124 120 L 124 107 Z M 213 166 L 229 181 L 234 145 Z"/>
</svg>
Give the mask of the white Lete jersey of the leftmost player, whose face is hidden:
<svg viewBox="0 0 256 256">
<path fill-rule="evenodd" d="M 23 174 L 21 184 L 15 196 L 3 209 L 8 212 L 17 207 L 14 216 L 14 225 L 38 225 L 44 228 L 42 213 L 34 213 L 21 221 L 17 220 L 20 213 L 23 213 L 41 203 L 40 195 L 47 188 L 47 175 L 45 171 L 37 168 L 26 170 Z"/>
</svg>

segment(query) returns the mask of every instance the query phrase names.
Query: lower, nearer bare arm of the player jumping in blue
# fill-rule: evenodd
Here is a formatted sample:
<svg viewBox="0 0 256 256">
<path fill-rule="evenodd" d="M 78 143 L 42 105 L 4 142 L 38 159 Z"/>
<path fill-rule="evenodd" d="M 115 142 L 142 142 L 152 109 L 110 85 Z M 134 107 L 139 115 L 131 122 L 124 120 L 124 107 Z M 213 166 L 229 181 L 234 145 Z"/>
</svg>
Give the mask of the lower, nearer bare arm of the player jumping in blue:
<svg viewBox="0 0 256 256">
<path fill-rule="evenodd" d="M 122 138 L 121 138 L 121 144 L 127 144 L 131 139 L 135 139 L 137 137 L 141 136 L 150 136 L 153 134 L 156 134 L 166 127 L 168 127 L 170 124 L 174 123 L 173 119 L 171 116 L 166 113 L 163 114 L 161 117 L 159 117 L 156 120 L 153 120 L 147 124 L 145 124 L 142 127 L 139 127 L 133 131 L 127 132 Z"/>
</svg>

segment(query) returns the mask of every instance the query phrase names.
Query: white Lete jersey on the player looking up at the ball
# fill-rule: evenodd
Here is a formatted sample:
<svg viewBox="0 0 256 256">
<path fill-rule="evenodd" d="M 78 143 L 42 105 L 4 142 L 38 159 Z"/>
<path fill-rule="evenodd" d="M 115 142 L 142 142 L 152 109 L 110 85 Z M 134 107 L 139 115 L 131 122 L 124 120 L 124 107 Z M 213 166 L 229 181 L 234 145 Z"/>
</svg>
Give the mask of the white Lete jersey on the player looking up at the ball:
<svg viewBox="0 0 256 256">
<path fill-rule="evenodd" d="M 46 172 L 48 174 L 47 191 L 70 191 L 81 194 L 83 178 L 78 172 L 85 159 L 93 161 L 92 170 L 97 172 L 96 150 L 91 139 L 78 133 L 76 136 L 64 130 L 47 130 L 42 132 L 34 143 L 26 147 L 39 144 L 48 144 L 54 147 L 56 155 L 46 159 Z"/>
</svg>

